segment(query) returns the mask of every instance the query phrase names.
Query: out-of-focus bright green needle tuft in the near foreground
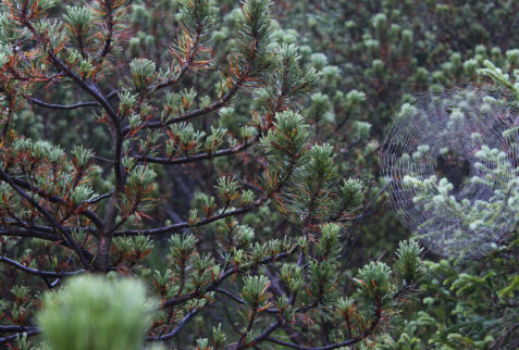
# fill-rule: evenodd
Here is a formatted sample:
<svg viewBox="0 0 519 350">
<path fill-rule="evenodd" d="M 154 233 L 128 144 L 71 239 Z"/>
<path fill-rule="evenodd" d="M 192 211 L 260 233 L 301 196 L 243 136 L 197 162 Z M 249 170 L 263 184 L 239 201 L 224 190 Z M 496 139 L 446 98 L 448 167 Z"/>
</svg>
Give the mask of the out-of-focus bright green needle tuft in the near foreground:
<svg viewBox="0 0 519 350">
<path fill-rule="evenodd" d="M 152 307 L 137 280 L 82 276 L 47 295 L 38 324 L 52 349 L 140 349 Z"/>
</svg>

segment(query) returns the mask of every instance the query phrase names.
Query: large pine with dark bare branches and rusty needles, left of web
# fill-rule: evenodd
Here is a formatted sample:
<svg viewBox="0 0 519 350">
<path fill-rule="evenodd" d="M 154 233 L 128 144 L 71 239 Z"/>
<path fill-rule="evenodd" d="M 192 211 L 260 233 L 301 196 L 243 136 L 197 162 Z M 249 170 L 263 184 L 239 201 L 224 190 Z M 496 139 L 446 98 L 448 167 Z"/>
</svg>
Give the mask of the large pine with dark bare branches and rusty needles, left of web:
<svg viewBox="0 0 519 350">
<path fill-rule="evenodd" d="M 269 0 L 246 0 L 233 12 L 222 60 L 213 59 L 222 52 L 212 46 L 219 11 L 209 0 L 180 1 L 168 55 L 137 50 L 131 60 L 126 48 L 138 47 L 129 23 L 139 4 L 53 4 L 0 3 L 0 291 L 8 296 L 0 303 L 1 345 L 38 345 L 30 337 L 41 332 L 35 325 L 41 290 L 64 285 L 65 298 L 47 303 L 78 302 L 84 292 L 84 302 L 101 310 L 99 296 L 132 297 L 116 288 L 92 297 L 91 288 L 109 288 L 99 279 L 85 290 L 63 284 L 88 273 L 146 280 L 160 300 L 149 307 L 146 340 L 181 348 L 334 349 L 375 336 L 390 322 L 421 275 L 421 250 L 401 243 L 394 272 L 371 262 L 357 273 L 357 289 L 346 288 L 342 237 L 362 205 L 362 183 L 343 178 L 336 149 L 310 138 L 301 97 L 326 72 L 318 58 L 304 64 L 296 46 L 275 40 Z M 198 82 L 214 76 L 212 89 Z M 250 96 L 256 103 L 246 116 L 234 115 L 242 110 L 232 105 Z M 73 118 L 66 134 L 77 137 L 27 132 L 25 123 L 39 114 L 47 124 Z M 235 122 L 224 127 L 219 118 Z M 100 141 L 85 140 L 74 125 L 101 125 Z M 220 159 L 226 165 L 237 159 L 239 168 L 213 167 Z M 194 188 L 200 191 L 184 203 L 185 218 L 161 216 L 176 195 L 169 174 L 195 177 L 202 161 L 208 184 Z M 289 228 L 244 222 L 262 210 Z M 107 305 L 114 305 L 103 311 L 110 320 L 127 322 L 120 304 Z M 51 342 L 63 341 L 55 310 L 38 320 Z M 325 324 L 334 329 L 319 339 L 313 330 Z M 70 334 L 106 339 L 118 337 L 119 326 Z"/>
</svg>

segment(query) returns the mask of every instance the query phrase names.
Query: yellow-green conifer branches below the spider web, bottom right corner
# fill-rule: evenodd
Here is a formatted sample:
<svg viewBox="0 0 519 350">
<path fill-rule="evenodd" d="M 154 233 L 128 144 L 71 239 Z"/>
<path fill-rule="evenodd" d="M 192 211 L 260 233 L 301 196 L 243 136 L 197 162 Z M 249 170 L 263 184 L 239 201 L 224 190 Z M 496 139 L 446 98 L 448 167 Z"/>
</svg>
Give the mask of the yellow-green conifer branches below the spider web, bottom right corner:
<svg viewBox="0 0 519 350">
<path fill-rule="evenodd" d="M 381 347 L 506 348 L 514 341 L 517 320 L 514 254 L 517 238 L 461 266 L 445 260 L 427 262 L 421 284 L 427 295 L 416 305 L 419 311 L 404 323 L 397 338 L 384 339 Z"/>
</svg>

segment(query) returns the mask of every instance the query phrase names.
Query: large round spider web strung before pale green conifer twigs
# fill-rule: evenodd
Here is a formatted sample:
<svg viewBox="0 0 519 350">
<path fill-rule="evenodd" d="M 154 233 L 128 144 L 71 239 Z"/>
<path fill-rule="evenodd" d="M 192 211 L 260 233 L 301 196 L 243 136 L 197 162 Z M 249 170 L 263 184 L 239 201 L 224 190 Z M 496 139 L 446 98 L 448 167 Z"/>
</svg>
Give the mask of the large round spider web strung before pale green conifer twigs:
<svg viewBox="0 0 519 350">
<path fill-rule="evenodd" d="M 382 176 L 400 222 L 433 252 L 481 258 L 516 228 L 517 105 L 496 90 L 436 89 L 395 116 Z"/>
</svg>

